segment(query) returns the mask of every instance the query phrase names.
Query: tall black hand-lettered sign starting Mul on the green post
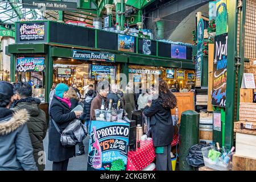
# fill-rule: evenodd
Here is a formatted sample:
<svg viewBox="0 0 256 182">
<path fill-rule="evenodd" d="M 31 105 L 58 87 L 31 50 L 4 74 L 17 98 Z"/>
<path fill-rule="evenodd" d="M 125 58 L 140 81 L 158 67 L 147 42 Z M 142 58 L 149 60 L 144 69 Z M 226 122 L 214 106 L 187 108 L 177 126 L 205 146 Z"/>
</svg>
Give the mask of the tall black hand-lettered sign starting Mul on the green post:
<svg viewBox="0 0 256 182">
<path fill-rule="evenodd" d="M 228 34 L 214 37 L 212 105 L 226 106 Z"/>
</svg>

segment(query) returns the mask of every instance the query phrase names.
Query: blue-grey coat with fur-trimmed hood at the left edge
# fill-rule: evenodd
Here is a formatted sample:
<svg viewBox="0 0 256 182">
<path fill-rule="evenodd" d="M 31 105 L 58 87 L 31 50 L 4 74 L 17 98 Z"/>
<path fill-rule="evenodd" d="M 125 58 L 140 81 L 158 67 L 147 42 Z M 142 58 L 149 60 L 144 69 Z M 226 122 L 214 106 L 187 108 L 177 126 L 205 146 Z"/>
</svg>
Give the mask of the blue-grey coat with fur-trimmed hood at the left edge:
<svg viewBox="0 0 256 182">
<path fill-rule="evenodd" d="M 22 109 L 0 108 L 0 171 L 36 171 L 27 129 L 28 114 Z"/>
</svg>

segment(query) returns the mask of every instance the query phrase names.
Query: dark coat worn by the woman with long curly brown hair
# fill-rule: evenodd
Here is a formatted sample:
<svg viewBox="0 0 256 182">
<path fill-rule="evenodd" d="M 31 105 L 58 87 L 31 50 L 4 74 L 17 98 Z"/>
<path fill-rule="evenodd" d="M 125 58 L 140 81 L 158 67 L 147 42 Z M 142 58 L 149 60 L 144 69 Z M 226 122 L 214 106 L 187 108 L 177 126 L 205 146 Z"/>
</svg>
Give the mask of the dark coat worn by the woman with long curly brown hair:
<svg viewBox="0 0 256 182">
<path fill-rule="evenodd" d="M 151 134 L 154 147 L 171 144 L 174 135 L 174 126 L 170 109 L 164 109 L 161 101 L 153 100 L 150 107 L 144 108 L 144 114 L 150 117 Z"/>
</svg>

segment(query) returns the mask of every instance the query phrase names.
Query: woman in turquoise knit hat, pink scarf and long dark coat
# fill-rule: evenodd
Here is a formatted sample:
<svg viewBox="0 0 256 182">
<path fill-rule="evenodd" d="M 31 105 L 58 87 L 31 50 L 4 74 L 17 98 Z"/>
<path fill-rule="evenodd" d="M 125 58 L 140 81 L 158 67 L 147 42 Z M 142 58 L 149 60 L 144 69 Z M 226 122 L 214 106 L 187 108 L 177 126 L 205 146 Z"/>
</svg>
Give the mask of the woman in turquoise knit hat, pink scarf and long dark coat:
<svg viewBox="0 0 256 182">
<path fill-rule="evenodd" d="M 74 119 L 79 118 L 81 111 L 71 112 L 71 101 L 68 98 L 68 86 L 58 84 L 50 107 L 50 115 L 59 129 L 63 131 Z M 68 160 L 75 156 L 75 146 L 65 148 L 60 142 L 60 134 L 51 120 L 49 126 L 48 160 L 52 161 L 53 171 L 67 171 Z"/>
</svg>

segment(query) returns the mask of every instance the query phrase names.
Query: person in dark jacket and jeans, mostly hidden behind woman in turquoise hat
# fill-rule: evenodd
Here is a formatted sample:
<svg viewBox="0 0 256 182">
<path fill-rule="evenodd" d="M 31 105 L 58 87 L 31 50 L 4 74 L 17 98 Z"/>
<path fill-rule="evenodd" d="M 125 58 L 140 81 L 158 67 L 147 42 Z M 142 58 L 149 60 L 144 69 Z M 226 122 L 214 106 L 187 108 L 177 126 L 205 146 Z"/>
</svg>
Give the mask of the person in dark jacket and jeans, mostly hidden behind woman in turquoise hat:
<svg viewBox="0 0 256 182">
<path fill-rule="evenodd" d="M 86 93 L 87 97 L 84 100 L 84 111 L 82 112 L 82 116 L 80 117 L 81 121 L 84 121 L 85 126 L 88 130 L 88 135 L 90 135 L 90 105 L 92 104 L 93 100 L 93 90 L 88 90 Z M 84 144 L 81 142 L 79 145 L 79 152 L 76 153 L 76 155 L 84 155 Z"/>
</svg>

